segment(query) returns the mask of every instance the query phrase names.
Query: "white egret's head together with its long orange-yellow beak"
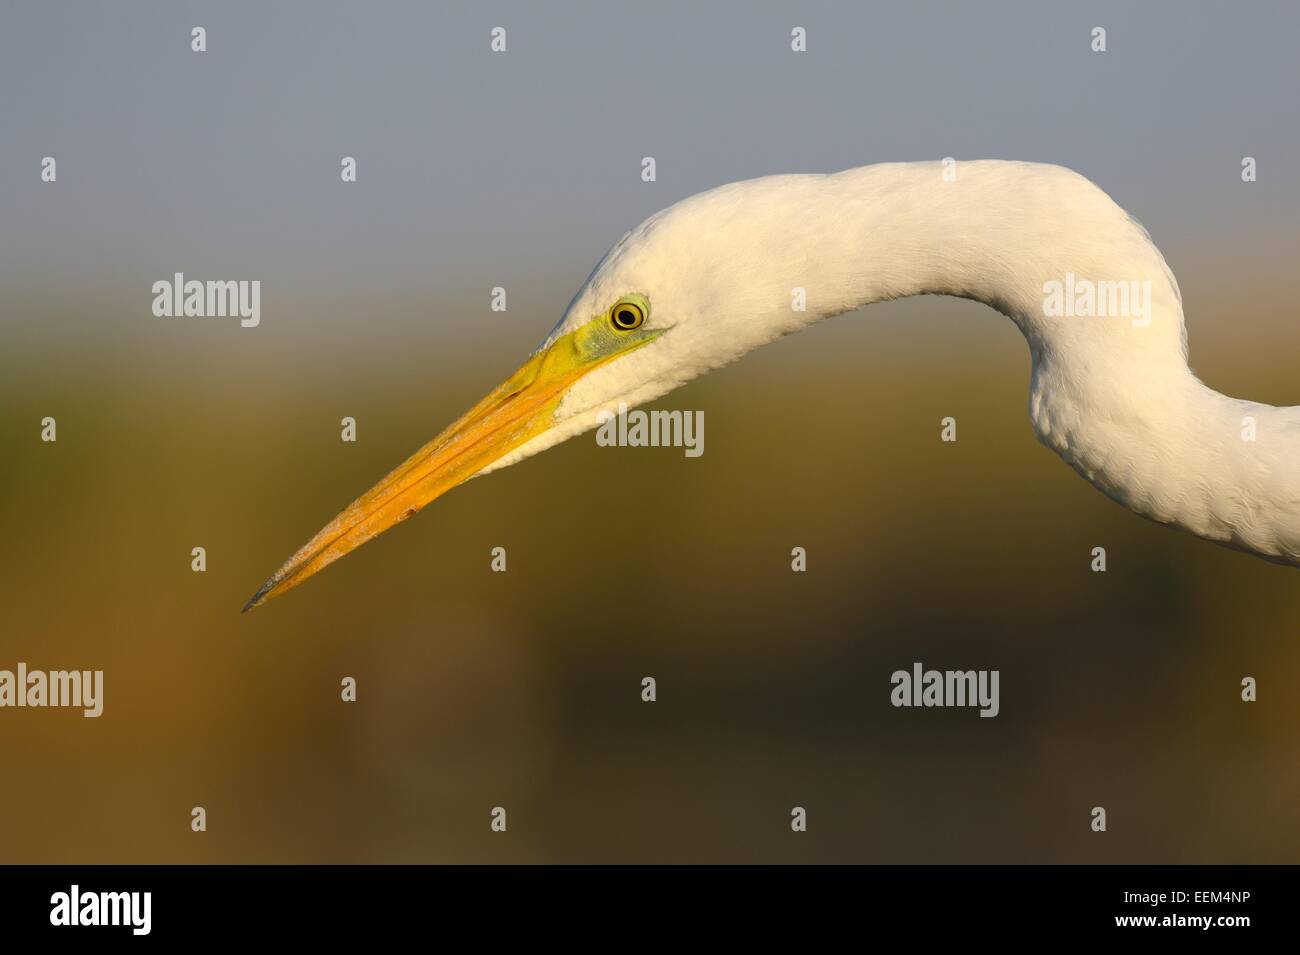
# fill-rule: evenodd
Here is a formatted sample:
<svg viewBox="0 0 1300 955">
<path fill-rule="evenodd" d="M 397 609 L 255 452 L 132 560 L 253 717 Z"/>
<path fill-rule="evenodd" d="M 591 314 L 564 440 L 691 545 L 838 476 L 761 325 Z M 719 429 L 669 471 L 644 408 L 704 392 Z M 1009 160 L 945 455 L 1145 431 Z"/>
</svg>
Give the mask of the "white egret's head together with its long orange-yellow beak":
<svg viewBox="0 0 1300 955">
<path fill-rule="evenodd" d="M 589 430 L 603 411 L 651 400 L 806 324 L 790 309 L 786 259 L 797 253 L 774 257 L 771 248 L 764 251 L 774 210 L 745 195 L 764 182 L 703 192 L 628 233 L 514 374 L 344 508 L 244 609 L 300 583 L 456 485 Z"/>
</svg>

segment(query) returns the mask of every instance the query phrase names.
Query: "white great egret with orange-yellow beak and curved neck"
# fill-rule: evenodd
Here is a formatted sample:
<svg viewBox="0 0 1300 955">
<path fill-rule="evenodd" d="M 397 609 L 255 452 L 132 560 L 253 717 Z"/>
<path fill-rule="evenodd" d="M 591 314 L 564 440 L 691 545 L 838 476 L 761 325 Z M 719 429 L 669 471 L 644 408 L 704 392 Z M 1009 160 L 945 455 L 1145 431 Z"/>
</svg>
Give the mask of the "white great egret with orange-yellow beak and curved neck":
<svg viewBox="0 0 1300 955">
<path fill-rule="evenodd" d="M 1061 166 L 901 162 L 736 182 L 647 218 L 515 374 L 330 521 L 244 609 L 451 487 L 594 427 L 602 411 L 822 318 L 923 294 L 975 299 L 1015 322 L 1032 360 L 1034 430 L 1100 491 L 1300 564 L 1300 407 L 1197 381 L 1178 285 L 1141 225 Z"/>
</svg>

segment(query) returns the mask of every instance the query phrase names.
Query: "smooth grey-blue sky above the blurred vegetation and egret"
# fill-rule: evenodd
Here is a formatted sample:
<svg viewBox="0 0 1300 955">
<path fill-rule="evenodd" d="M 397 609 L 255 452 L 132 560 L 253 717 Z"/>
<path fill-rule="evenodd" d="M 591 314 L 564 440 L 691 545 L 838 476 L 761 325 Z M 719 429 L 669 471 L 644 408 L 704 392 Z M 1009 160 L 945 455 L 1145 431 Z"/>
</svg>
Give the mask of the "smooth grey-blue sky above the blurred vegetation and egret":
<svg viewBox="0 0 1300 955">
<path fill-rule="evenodd" d="M 1300 218 L 1292 4 L 129 6 L 4 13 L 0 288 L 186 270 L 286 298 L 525 279 L 563 296 L 701 188 L 946 155 L 1070 165 L 1166 252 Z M 190 52 L 194 25 L 209 52 Z"/>
</svg>

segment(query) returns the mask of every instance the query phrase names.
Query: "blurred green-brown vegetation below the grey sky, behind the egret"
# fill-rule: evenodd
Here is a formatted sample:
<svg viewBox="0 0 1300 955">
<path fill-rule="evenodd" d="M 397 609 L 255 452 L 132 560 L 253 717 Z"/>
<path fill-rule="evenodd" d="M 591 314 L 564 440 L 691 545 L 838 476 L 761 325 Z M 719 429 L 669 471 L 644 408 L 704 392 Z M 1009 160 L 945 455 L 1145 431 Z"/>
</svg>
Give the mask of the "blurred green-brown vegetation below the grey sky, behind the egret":
<svg viewBox="0 0 1300 955">
<path fill-rule="evenodd" d="M 105 713 L 0 712 L 3 860 L 1300 854 L 1300 574 L 1145 522 L 1037 446 L 1023 342 L 972 303 L 783 340 L 658 403 L 705 411 L 703 457 L 585 435 L 240 616 L 550 324 L 426 321 L 460 304 L 295 303 L 333 329 L 313 338 L 266 307 L 240 330 L 112 296 L 20 303 L 0 667 L 101 668 Z M 1192 333 L 1212 385 L 1297 399 L 1284 316 L 1214 327 Z M 889 673 L 914 660 L 1000 669 L 1001 716 L 893 709 Z"/>
</svg>

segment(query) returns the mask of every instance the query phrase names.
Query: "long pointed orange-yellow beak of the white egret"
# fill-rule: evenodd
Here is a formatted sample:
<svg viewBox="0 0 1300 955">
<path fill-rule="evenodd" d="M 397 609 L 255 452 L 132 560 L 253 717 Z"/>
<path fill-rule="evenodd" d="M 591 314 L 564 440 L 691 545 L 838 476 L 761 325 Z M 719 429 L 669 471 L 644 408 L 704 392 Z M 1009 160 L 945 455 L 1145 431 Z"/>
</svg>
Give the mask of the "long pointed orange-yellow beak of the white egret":
<svg viewBox="0 0 1300 955">
<path fill-rule="evenodd" d="M 296 587 L 549 430 L 560 399 L 573 382 L 656 337 L 656 333 L 633 334 L 610 347 L 608 333 L 592 326 L 568 333 L 534 355 L 459 421 L 348 504 L 261 585 L 243 612 Z"/>
</svg>

